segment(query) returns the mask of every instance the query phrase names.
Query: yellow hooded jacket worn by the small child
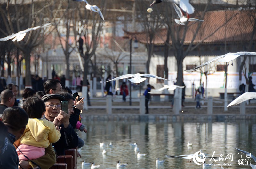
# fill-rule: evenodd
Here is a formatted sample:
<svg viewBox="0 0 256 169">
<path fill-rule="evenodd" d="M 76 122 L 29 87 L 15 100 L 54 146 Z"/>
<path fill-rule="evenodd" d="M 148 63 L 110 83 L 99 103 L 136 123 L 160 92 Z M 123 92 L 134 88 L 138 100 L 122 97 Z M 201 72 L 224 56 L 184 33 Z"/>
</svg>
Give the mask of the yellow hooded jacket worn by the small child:
<svg viewBox="0 0 256 169">
<path fill-rule="evenodd" d="M 53 122 L 46 119 L 29 118 L 20 144 L 47 148 L 60 139 L 60 132 Z"/>
</svg>

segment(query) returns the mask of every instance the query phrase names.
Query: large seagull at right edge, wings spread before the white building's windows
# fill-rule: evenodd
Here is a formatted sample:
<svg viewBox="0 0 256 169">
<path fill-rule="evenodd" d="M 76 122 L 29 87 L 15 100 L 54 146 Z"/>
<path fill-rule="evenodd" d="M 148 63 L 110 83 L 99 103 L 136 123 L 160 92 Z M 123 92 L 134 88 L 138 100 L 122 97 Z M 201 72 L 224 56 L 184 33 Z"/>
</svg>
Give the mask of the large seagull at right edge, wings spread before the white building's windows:
<svg viewBox="0 0 256 169">
<path fill-rule="evenodd" d="M 241 55 L 256 55 L 256 52 L 229 52 L 225 55 L 221 55 L 221 56 L 217 56 L 211 60 L 209 60 L 208 62 L 205 62 L 204 64 L 201 64 L 200 66 L 197 66 L 193 69 L 190 69 L 190 70 L 186 70 L 187 72 L 192 72 L 192 71 L 195 71 L 197 69 L 200 69 L 202 67 L 204 67 L 205 65 L 208 65 L 210 63 L 212 63 L 213 61 L 216 61 L 219 59 L 219 62 L 230 62 L 234 59 L 236 59 L 237 57 L 241 56 Z"/>
</svg>

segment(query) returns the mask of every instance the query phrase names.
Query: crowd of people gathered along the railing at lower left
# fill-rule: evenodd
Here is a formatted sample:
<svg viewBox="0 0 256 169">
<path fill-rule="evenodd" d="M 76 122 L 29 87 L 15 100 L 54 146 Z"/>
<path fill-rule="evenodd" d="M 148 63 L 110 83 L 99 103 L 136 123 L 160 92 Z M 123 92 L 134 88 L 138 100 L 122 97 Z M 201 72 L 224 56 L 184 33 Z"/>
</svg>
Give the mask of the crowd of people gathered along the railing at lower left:
<svg viewBox="0 0 256 169">
<path fill-rule="evenodd" d="M 60 80 L 36 79 L 36 89 L 43 91 L 25 88 L 17 100 L 18 86 L 8 84 L 0 94 L 0 169 L 48 169 L 66 149 L 84 145 L 76 133 L 87 132 L 80 116 L 84 98 L 78 101 Z M 68 112 L 61 101 L 67 101 Z"/>
</svg>

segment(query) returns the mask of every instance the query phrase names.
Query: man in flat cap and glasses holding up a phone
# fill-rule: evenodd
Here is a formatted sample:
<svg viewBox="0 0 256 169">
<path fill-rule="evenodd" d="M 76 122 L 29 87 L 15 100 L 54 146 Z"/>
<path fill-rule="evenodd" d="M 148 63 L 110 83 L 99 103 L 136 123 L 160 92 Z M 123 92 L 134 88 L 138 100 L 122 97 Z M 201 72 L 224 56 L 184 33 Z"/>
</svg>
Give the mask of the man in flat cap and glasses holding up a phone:
<svg viewBox="0 0 256 169">
<path fill-rule="evenodd" d="M 65 150 L 75 148 L 78 145 L 78 137 L 69 123 L 70 112 L 62 111 L 60 102 L 64 96 L 60 94 L 46 94 L 42 97 L 46 106 L 44 118 L 52 121 L 55 126 L 61 127 L 60 140 L 52 143 L 57 155 L 65 155 Z"/>
</svg>

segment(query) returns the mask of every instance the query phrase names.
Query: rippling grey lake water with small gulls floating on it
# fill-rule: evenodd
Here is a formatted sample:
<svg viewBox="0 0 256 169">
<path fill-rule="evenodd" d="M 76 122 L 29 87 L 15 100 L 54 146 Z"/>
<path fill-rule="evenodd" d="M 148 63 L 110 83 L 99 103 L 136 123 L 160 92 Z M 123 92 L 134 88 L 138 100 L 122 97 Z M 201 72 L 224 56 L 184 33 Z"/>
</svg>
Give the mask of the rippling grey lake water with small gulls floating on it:
<svg viewBox="0 0 256 169">
<path fill-rule="evenodd" d="M 226 164 L 223 168 L 249 169 L 250 162 L 246 154 L 239 154 L 233 147 L 256 155 L 256 123 L 251 121 L 235 122 L 131 122 L 131 121 L 82 121 L 88 132 L 79 132 L 84 140 L 84 146 L 79 150 L 82 158 L 78 158 L 77 168 L 81 163 L 94 162 L 100 168 L 116 168 L 117 161 L 121 164 L 128 163 L 127 169 L 152 169 L 156 168 L 156 158 L 164 159 L 167 155 L 194 154 L 200 149 L 206 156 L 212 157 L 213 152 L 216 162 L 206 158 L 206 163 L 216 165 Z M 187 147 L 188 141 L 193 143 Z M 104 147 L 99 143 L 104 142 Z M 113 147 L 108 144 L 112 142 Z M 134 148 L 129 143 L 138 143 L 140 153 L 145 157 L 137 158 Z M 107 151 L 102 155 L 102 151 Z M 232 153 L 232 154 L 230 154 Z M 224 158 L 221 160 L 220 155 Z M 231 161 L 231 155 L 233 160 Z M 227 158 L 225 160 L 225 158 Z M 183 158 L 165 158 L 158 168 L 165 169 L 196 169 L 202 168 Z M 210 160 L 210 161 L 208 161 Z M 91 167 L 85 167 L 91 168 Z M 212 167 L 220 168 L 220 166 Z"/>
</svg>

